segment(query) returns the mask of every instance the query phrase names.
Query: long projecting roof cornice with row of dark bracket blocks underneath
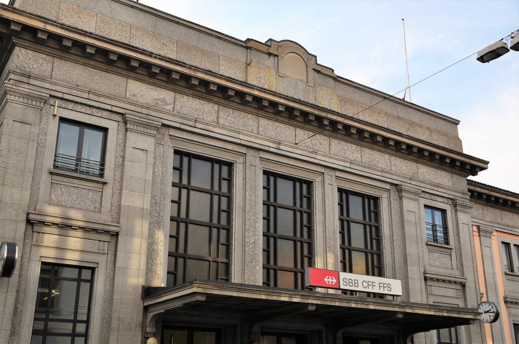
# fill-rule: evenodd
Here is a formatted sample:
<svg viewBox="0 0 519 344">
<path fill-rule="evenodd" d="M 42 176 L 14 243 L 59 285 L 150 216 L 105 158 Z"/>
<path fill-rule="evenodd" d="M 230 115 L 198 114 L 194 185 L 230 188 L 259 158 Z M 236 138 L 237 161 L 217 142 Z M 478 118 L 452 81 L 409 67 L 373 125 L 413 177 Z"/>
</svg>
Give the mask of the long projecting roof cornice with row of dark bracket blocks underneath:
<svg viewBox="0 0 519 344">
<path fill-rule="evenodd" d="M 15 44 L 25 45 L 27 41 L 33 42 L 35 45 L 44 46 L 49 54 L 59 53 L 61 58 L 66 56 L 74 59 L 85 58 L 95 64 L 106 64 L 115 73 L 136 74 L 139 78 L 149 78 L 151 82 L 169 84 L 169 87 L 174 85 L 174 88 L 185 88 L 191 93 L 203 93 L 206 97 L 219 98 L 220 101 L 224 98 L 227 102 L 240 104 L 254 112 L 261 110 L 270 116 L 306 123 L 314 126 L 316 131 L 346 136 L 348 140 L 362 141 L 362 145 L 377 146 L 378 150 L 407 155 L 428 165 L 440 165 L 463 176 L 477 175 L 479 171 L 488 168 L 487 161 L 468 154 L 405 136 L 387 127 L 345 116 L 337 111 L 258 88 L 247 82 L 230 79 L 131 45 L 38 18 L 30 13 L 8 8 L 3 16 L 4 22 L 22 24 L 16 35 L 9 34 L 5 30 L 2 33 L 0 28 L 0 35 L 11 38 Z M 38 30 L 44 30 L 49 34 L 35 35 L 34 32 Z M 141 129 L 135 128 L 142 132 Z M 148 134 L 152 135 L 152 133 L 153 130 Z"/>
</svg>

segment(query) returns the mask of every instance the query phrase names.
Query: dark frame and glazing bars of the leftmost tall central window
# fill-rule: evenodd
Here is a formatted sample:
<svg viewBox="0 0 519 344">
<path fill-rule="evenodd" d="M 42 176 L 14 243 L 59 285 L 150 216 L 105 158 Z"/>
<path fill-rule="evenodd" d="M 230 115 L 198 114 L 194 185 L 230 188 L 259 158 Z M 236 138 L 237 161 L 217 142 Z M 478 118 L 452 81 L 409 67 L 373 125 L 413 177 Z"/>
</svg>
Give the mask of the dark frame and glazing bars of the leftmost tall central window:
<svg viewBox="0 0 519 344">
<path fill-rule="evenodd" d="M 174 156 L 176 154 L 180 154 L 180 159 L 181 159 L 181 167 L 180 167 L 180 171 L 182 171 L 182 168 L 184 168 L 182 165 L 183 165 L 183 157 L 184 156 L 188 156 L 188 161 L 189 161 L 189 170 L 188 170 L 188 175 L 187 175 L 187 178 L 189 179 L 189 183 L 188 184 L 185 184 L 183 183 L 184 180 L 180 179 L 180 181 L 182 182 L 175 182 L 174 179 L 172 178 L 171 179 L 171 188 L 179 188 L 179 200 L 173 200 L 172 197 L 170 197 L 170 203 L 173 204 L 173 203 L 177 203 L 177 209 L 178 209 L 178 216 L 173 216 L 171 214 L 171 212 L 169 213 L 169 220 L 170 220 L 170 223 L 169 223 L 169 231 L 168 231 L 168 249 L 167 249 L 167 264 L 166 264 L 166 285 L 168 286 L 174 286 L 174 285 L 181 285 L 181 284 L 184 284 L 184 283 L 187 283 L 189 282 L 188 280 L 186 280 L 186 271 L 187 271 L 187 260 L 188 259 L 194 259 L 194 260 L 203 260 L 203 261 L 208 261 L 209 262 L 209 276 L 211 277 L 211 274 L 212 274 L 212 269 L 211 269 L 211 265 L 213 263 L 217 263 L 217 278 L 216 279 L 212 279 L 210 278 L 211 280 L 217 280 L 217 281 L 230 281 L 230 278 L 231 278 L 231 249 L 232 249 L 232 235 L 231 235 L 231 232 L 233 230 L 233 202 L 234 202 L 234 168 L 235 168 L 235 163 L 233 162 L 228 162 L 228 161 L 224 161 L 224 160 L 220 160 L 220 159 L 215 159 L 214 157 L 212 156 L 204 156 L 204 155 L 201 155 L 201 154 L 196 154 L 196 153 L 191 153 L 191 152 L 188 152 L 188 151 L 184 151 L 184 150 L 175 150 L 173 152 L 173 160 L 172 160 L 172 169 L 171 169 L 171 174 L 173 175 L 173 171 L 174 170 L 179 170 L 179 168 L 175 167 L 174 166 Z M 212 189 L 206 189 L 206 188 L 201 188 L 201 187 L 196 187 L 195 185 L 191 185 L 191 175 L 190 175 L 190 168 L 192 166 L 192 161 L 193 161 L 193 158 L 194 159 L 199 159 L 199 160 L 203 160 L 203 161 L 207 161 L 207 162 L 210 162 L 211 163 L 211 185 L 212 185 Z M 221 183 L 222 183 L 222 180 L 223 179 L 226 179 L 229 183 L 229 189 L 228 189 L 228 192 L 223 192 L 223 191 L 217 191 L 217 190 L 214 190 L 214 178 L 215 178 L 215 175 L 214 175 L 214 166 L 215 164 L 220 164 L 220 171 L 219 171 L 219 175 L 220 175 L 220 180 L 219 180 L 219 184 L 218 184 L 218 188 L 221 189 Z M 224 178 L 222 177 L 222 166 L 223 165 L 226 165 L 228 166 L 229 168 L 229 177 L 227 178 Z M 181 172 L 179 172 L 181 173 Z M 181 177 L 182 178 L 182 177 Z M 182 202 L 182 196 L 181 196 L 181 193 L 182 193 L 182 190 L 183 189 L 187 189 L 188 191 L 186 192 L 186 195 L 187 195 L 187 199 L 186 199 L 186 217 L 183 218 L 181 217 L 181 214 L 180 214 L 180 209 L 182 207 L 181 205 L 181 202 Z M 220 217 L 221 217 L 221 213 L 222 212 L 227 212 L 228 213 L 228 221 L 227 221 L 227 224 L 226 225 L 223 225 L 219 222 L 203 222 L 203 221 L 199 221 L 199 220 L 194 220 L 194 219 L 190 219 L 189 218 L 189 197 L 190 197 L 190 191 L 191 190 L 194 190 L 194 191 L 199 191 L 199 192 L 203 192 L 203 193 L 210 193 L 211 194 L 211 204 L 213 203 L 213 199 L 214 199 L 214 196 L 215 195 L 218 195 L 220 197 L 228 197 L 228 209 L 227 210 L 222 210 L 222 207 L 221 207 L 221 202 L 220 202 L 220 205 L 218 207 L 218 221 L 220 221 Z M 171 195 L 173 196 L 173 195 Z M 221 199 L 221 198 L 218 198 L 218 199 Z M 211 220 L 212 220 L 212 216 L 213 216 L 213 210 L 211 209 L 211 212 L 210 212 L 210 216 L 211 216 Z M 175 221 L 177 223 L 177 228 L 176 228 L 176 235 L 172 234 L 172 227 L 171 227 L 171 222 Z M 212 252 L 211 252 L 211 249 L 212 249 L 212 245 L 213 245 L 213 242 L 211 241 L 209 243 L 209 256 L 201 256 L 201 255 L 196 255 L 196 254 L 190 254 L 190 253 L 186 253 L 186 252 L 175 252 L 175 251 L 172 251 L 171 250 L 171 247 L 170 247 L 170 242 L 171 242 L 171 238 L 175 238 L 176 237 L 176 246 L 179 247 L 180 245 L 180 227 L 181 227 L 181 223 L 185 223 L 185 238 L 183 239 L 184 240 L 184 248 L 187 248 L 187 239 L 188 239 L 188 227 L 189 227 L 189 224 L 195 224 L 195 225 L 200 225 L 200 226 L 209 226 L 211 229 L 211 238 L 213 237 L 213 231 L 215 230 L 214 228 L 217 228 L 216 231 L 217 231 L 217 256 L 214 257 L 212 256 Z M 224 229 L 224 230 L 227 230 L 227 242 L 226 243 L 223 243 L 222 244 L 222 241 L 221 241 L 221 238 L 220 238 L 220 231 Z M 220 246 L 221 245 L 225 245 L 227 246 L 227 259 L 223 259 L 223 258 L 220 258 L 218 257 L 220 253 Z M 175 257 L 175 270 L 170 270 L 169 269 L 169 260 L 170 260 L 170 257 Z M 179 273 L 179 259 L 183 259 L 183 281 L 181 283 L 179 283 L 177 281 L 177 278 L 178 278 L 178 273 Z M 224 263 L 224 264 L 227 264 L 227 277 L 221 277 L 220 276 L 220 269 L 221 269 L 221 263 Z M 174 275 L 174 283 L 173 284 L 168 284 L 168 275 Z"/>
</svg>

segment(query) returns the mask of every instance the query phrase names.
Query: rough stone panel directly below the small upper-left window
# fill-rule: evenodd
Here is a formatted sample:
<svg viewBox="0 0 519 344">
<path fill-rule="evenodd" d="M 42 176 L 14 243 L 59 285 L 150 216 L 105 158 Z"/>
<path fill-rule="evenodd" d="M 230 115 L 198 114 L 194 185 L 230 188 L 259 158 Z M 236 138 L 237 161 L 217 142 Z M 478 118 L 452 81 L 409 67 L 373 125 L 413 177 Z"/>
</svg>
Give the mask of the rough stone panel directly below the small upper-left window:
<svg viewBox="0 0 519 344">
<path fill-rule="evenodd" d="M 84 209 L 89 211 L 101 211 L 101 196 L 103 192 L 100 190 L 92 190 L 72 185 L 52 183 L 50 186 L 49 202 L 50 204 Z"/>
</svg>

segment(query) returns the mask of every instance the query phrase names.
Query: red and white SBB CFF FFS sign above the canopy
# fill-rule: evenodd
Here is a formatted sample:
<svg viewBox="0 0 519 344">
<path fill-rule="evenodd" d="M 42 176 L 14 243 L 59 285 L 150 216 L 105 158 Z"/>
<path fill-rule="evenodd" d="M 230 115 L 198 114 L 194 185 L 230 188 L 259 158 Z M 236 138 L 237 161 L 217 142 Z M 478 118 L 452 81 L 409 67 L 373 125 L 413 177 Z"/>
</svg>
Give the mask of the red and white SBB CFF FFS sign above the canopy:
<svg viewBox="0 0 519 344">
<path fill-rule="evenodd" d="M 306 285 L 402 296 L 402 283 L 400 280 L 349 274 L 341 271 L 316 269 L 313 267 L 306 269 Z"/>
</svg>

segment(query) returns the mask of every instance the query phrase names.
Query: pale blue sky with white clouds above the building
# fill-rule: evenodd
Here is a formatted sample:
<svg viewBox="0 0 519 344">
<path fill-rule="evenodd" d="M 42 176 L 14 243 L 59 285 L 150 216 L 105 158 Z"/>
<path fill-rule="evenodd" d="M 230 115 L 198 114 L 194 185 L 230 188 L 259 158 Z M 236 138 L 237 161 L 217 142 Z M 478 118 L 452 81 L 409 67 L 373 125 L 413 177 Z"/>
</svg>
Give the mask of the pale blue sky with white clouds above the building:
<svg viewBox="0 0 519 344">
<path fill-rule="evenodd" d="M 337 75 L 390 94 L 406 86 L 402 18 L 412 84 L 519 28 L 519 0 L 140 3 L 239 39 L 295 40 Z M 519 52 L 475 58 L 416 85 L 412 100 L 461 120 L 465 153 L 490 161 L 471 179 L 519 192 Z"/>
</svg>

